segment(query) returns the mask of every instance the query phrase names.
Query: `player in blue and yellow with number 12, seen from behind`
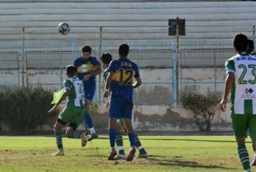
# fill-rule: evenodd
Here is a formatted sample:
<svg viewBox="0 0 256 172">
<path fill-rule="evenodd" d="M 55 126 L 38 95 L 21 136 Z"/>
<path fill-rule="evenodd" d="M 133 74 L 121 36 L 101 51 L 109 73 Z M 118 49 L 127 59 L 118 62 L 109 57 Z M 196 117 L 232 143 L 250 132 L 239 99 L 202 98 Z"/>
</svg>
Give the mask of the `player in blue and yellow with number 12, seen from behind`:
<svg viewBox="0 0 256 172">
<path fill-rule="evenodd" d="M 117 118 L 123 118 L 130 141 L 130 152 L 126 161 L 132 161 L 135 156 L 134 130 L 132 127 L 132 89 L 141 85 L 138 66 L 127 59 L 129 46 L 125 43 L 118 48 L 118 60 L 113 60 L 109 65 L 109 75 L 107 76 L 104 97 L 109 96 L 109 87 L 111 87 L 110 106 L 109 106 L 109 140 L 110 152 L 107 159 L 114 160 L 117 155 L 115 150 L 115 124 Z M 133 84 L 133 79 L 136 82 Z"/>
</svg>

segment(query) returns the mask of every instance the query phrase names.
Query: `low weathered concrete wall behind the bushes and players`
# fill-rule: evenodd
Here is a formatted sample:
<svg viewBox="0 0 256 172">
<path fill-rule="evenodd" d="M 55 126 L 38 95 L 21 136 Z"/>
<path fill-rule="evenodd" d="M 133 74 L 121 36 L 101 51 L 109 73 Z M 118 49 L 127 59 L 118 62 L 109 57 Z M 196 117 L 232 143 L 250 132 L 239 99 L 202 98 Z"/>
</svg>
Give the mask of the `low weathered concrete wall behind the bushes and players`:
<svg viewBox="0 0 256 172">
<path fill-rule="evenodd" d="M 91 112 L 94 127 L 100 133 L 107 133 L 108 110 L 101 104 L 97 110 Z M 132 123 L 136 131 L 181 132 L 197 131 L 193 123 L 193 113 L 181 106 L 134 106 Z M 37 130 L 53 130 L 57 116 L 48 119 L 45 125 L 37 127 Z M 8 126 L 1 124 L 2 129 L 8 130 Z M 85 126 L 80 126 L 81 130 Z M 226 112 L 217 110 L 213 120 L 215 131 L 230 131 L 231 118 L 229 107 Z"/>
</svg>

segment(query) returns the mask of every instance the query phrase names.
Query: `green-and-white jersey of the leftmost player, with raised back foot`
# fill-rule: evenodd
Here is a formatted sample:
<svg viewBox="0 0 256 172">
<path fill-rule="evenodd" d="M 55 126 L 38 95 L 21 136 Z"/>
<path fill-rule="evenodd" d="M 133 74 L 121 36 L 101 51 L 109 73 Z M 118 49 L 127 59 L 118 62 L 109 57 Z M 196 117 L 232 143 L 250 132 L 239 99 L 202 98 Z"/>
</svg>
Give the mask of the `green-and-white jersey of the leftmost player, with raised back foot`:
<svg viewBox="0 0 256 172">
<path fill-rule="evenodd" d="M 77 77 L 68 78 L 64 81 L 64 87 L 70 90 L 66 106 L 83 107 L 85 104 L 83 82 Z"/>
</svg>

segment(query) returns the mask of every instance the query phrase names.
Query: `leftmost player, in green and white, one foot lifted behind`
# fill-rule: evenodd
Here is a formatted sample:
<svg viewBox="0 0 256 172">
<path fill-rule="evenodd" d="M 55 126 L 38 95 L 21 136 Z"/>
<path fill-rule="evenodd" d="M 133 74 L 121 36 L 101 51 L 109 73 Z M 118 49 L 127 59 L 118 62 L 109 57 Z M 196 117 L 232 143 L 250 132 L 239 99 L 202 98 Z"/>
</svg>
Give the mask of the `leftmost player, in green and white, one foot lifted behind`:
<svg viewBox="0 0 256 172">
<path fill-rule="evenodd" d="M 54 133 L 56 137 L 56 143 L 58 151 L 53 154 L 53 156 L 63 156 L 64 150 L 62 145 L 62 128 L 69 123 L 69 127 L 66 130 L 66 136 L 68 138 L 82 139 L 82 147 L 85 147 L 87 142 L 87 134 L 77 132 L 77 127 L 83 121 L 84 114 L 84 89 L 83 82 L 79 80 L 77 75 L 77 69 L 75 66 L 69 65 L 66 67 L 66 75 L 68 79 L 64 81 L 65 92 L 60 98 L 60 100 L 54 105 L 52 109 L 49 110 L 50 113 L 57 110 L 60 103 L 68 97 L 66 102 L 66 107 L 60 113 L 55 125 Z"/>
</svg>

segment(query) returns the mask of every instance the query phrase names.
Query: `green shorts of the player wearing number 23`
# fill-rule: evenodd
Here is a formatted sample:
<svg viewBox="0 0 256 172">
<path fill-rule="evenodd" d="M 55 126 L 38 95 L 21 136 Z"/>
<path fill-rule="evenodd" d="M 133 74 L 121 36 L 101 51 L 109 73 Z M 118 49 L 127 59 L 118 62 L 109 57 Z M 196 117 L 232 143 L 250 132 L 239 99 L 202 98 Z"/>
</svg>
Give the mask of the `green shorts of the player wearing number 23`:
<svg viewBox="0 0 256 172">
<path fill-rule="evenodd" d="M 251 139 L 256 140 L 256 115 L 232 114 L 231 119 L 235 138 L 247 138 L 249 129 Z"/>
</svg>

